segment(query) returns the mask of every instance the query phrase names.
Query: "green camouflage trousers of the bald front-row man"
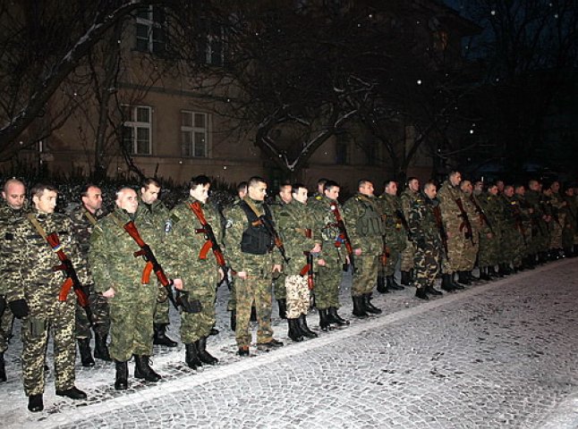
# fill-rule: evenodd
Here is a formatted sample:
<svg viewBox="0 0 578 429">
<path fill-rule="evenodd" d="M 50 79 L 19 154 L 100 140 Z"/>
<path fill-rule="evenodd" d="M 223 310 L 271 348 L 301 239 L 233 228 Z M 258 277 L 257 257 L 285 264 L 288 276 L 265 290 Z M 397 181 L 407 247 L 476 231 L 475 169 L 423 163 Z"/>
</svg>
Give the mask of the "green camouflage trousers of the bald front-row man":
<svg viewBox="0 0 578 429">
<path fill-rule="evenodd" d="M 133 284 L 115 291 L 115 297 L 108 300 L 112 358 L 124 362 L 132 355 L 152 355 L 156 303 L 156 283 Z"/>
</svg>

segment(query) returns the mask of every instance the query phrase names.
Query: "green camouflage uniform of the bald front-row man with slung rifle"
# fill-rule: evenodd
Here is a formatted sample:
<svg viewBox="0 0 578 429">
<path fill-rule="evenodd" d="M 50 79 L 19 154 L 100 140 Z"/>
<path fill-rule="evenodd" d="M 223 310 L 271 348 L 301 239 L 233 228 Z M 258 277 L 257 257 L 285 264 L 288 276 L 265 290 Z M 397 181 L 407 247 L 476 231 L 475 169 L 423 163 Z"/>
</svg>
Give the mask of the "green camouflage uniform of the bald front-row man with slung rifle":
<svg viewBox="0 0 578 429">
<path fill-rule="evenodd" d="M 95 290 L 99 294 L 111 287 L 115 290 L 115 297 L 107 299 L 109 350 L 110 356 L 118 362 L 125 362 L 132 355 L 152 354 L 153 314 L 158 293 L 154 273 L 148 284 L 141 282 L 145 262 L 141 257 L 134 257 L 134 252 L 140 248 L 122 226 L 130 220 L 160 262 L 162 253 L 157 252 L 161 248 L 157 227 L 147 216 L 131 215 L 116 207 L 113 213 L 98 221 L 90 236 L 89 267 Z"/>
</svg>

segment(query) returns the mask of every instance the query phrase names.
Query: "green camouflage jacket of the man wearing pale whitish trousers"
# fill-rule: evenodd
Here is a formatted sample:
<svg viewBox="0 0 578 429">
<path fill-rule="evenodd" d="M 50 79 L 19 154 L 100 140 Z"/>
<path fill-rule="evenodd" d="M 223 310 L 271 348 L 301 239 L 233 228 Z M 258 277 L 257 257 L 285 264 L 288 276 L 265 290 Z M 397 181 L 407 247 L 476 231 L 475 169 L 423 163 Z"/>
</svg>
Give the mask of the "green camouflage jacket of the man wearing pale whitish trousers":
<svg viewBox="0 0 578 429">
<path fill-rule="evenodd" d="M 291 258 L 285 271 L 299 273 L 307 262 L 303 252 L 310 251 L 316 242 L 321 242 L 319 236 L 317 240 L 315 237 L 313 213 L 309 206 L 293 199 L 277 211 L 276 221 L 287 256 Z M 307 230 L 310 230 L 309 234 Z"/>
</svg>

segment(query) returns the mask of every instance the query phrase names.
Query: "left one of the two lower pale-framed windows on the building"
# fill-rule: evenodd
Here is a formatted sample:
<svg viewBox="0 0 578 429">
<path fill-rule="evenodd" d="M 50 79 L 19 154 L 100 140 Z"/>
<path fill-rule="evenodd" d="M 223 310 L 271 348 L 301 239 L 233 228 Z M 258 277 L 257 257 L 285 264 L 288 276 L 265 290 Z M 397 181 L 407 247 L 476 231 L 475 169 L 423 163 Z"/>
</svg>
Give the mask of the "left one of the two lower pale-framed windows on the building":
<svg viewBox="0 0 578 429">
<path fill-rule="evenodd" d="M 123 145 L 129 154 L 152 155 L 151 114 L 146 105 L 123 106 Z"/>
</svg>

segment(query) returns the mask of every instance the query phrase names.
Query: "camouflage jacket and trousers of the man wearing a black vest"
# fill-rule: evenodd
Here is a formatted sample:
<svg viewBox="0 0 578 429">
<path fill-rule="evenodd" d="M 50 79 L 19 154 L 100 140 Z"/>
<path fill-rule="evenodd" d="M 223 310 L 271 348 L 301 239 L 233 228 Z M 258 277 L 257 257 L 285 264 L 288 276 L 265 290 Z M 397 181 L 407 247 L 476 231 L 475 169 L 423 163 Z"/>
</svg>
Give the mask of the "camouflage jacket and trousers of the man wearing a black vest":
<svg viewBox="0 0 578 429">
<path fill-rule="evenodd" d="M 266 214 L 265 204 L 262 201 L 250 200 L 251 204 L 259 210 L 259 215 Z M 273 341 L 271 328 L 271 277 L 273 265 L 278 262 L 278 252 L 273 249 L 273 239 L 259 226 L 261 239 L 268 240 L 267 251 L 263 254 L 249 253 L 242 250 L 244 232 L 251 228 L 244 209 L 248 209 L 247 203 L 242 201 L 233 206 L 227 212 L 227 230 L 225 231 L 225 244 L 227 257 L 231 267 L 237 273 L 246 272 L 247 279 L 238 278 L 235 282 L 236 292 L 236 330 L 235 339 L 238 347 L 246 348 L 251 344 L 251 332 L 249 322 L 251 318 L 251 305 L 255 303 L 259 329 L 257 342 L 264 344 Z M 249 210 L 251 210 L 249 208 Z M 273 220 L 274 221 L 274 220 Z M 247 240 L 251 244 L 250 240 Z M 277 262 L 276 262 L 277 261 Z"/>
</svg>

